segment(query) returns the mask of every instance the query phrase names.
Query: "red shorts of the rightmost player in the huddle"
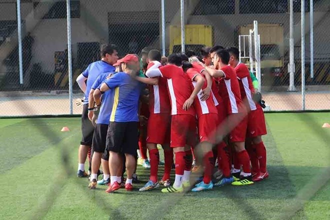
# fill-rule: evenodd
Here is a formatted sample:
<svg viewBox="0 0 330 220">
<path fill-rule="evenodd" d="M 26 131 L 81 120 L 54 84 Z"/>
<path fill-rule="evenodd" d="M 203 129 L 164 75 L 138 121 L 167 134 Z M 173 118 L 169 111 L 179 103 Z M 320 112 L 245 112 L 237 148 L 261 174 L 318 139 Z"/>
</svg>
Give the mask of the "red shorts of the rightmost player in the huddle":
<svg viewBox="0 0 330 220">
<path fill-rule="evenodd" d="M 266 122 L 264 120 L 264 114 L 261 107 L 250 111 L 247 118 L 247 137 L 255 137 L 267 134 Z"/>
</svg>

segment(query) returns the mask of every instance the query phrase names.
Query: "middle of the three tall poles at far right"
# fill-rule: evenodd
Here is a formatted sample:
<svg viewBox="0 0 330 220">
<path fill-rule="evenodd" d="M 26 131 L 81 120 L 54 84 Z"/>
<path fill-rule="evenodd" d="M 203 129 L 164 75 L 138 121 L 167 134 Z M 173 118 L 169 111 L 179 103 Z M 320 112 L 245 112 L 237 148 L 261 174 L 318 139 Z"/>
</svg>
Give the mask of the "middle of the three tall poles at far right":
<svg viewBox="0 0 330 220">
<path fill-rule="evenodd" d="M 301 0 L 301 109 L 305 109 L 305 0 Z"/>
</svg>

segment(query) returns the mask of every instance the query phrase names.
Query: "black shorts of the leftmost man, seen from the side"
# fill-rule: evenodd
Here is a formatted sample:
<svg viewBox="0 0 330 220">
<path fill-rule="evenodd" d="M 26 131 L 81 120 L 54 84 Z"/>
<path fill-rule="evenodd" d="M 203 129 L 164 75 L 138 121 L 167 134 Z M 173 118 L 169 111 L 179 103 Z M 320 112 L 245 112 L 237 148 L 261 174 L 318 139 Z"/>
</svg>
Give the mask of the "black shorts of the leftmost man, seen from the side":
<svg viewBox="0 0 330 220">
<path fill-rule="evenodd" d="M 82 106 L 81 132 L 82 132 L 82 138 L 81 138 L 80 144 L 91 146 L 91 142 L 93 139 L 94 126 L 91 123 L 91 121 L 88 119 L 88 104 L 84 104 Z"/>
</svg>

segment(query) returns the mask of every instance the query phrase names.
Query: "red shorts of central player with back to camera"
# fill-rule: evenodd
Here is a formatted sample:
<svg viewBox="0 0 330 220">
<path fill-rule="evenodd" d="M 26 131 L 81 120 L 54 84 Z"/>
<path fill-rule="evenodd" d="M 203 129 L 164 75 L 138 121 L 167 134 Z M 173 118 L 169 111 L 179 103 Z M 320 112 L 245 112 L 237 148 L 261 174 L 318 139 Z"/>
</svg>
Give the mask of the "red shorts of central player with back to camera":
<svg viewBox="0 0 330 220">
<path fill-rule="evenodd" d="M 170 146 L 179 147 L 188 144 L 195 146 L 196 138 L 196 118 L 190 114 L 172 115 L 170 124 Z"/>
</svg>

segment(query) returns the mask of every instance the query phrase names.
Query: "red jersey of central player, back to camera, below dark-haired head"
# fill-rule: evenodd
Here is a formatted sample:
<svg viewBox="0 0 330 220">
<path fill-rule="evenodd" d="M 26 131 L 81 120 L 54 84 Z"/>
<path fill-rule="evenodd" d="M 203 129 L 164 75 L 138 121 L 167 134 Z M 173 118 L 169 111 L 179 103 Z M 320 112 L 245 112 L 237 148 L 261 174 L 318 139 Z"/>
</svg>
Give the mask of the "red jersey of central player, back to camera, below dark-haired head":
<svg viewBox="0 0 330 220">
<path fill-rule="evenodd" d="M 191 87 L 188 77 L 183 69 L 176 65 L 164 65 L 159 68 L 161 76 L 167 79 L 168 96 L 171 104 L 171 115 L 190 114 L 195 116 L 195 109 L 190 107 L 183 110 L 183 104 L 191 95 Z"/>
</svg>

